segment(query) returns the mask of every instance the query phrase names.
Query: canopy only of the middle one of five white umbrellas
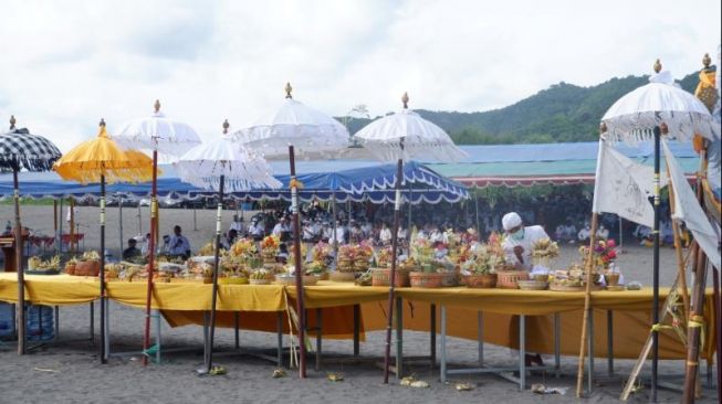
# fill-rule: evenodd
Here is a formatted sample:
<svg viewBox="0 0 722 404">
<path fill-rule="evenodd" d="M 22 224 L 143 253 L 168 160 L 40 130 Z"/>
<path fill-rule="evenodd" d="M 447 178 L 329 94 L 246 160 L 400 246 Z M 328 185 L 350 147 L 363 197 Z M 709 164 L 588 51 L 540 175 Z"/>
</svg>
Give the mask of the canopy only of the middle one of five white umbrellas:
<svg viewBox="0 0 722 404">
<path fill-rule="evenodd" d="M 281 107 L 233 136 L 247 147 L 261 150 L 265 158 L 287 158 L 289 146 L 303 158 L 335 156 L 345 149 L 349 137 L 346 127 L 293 99 L 292 89 L 286 83 Z"/>
</svg>

